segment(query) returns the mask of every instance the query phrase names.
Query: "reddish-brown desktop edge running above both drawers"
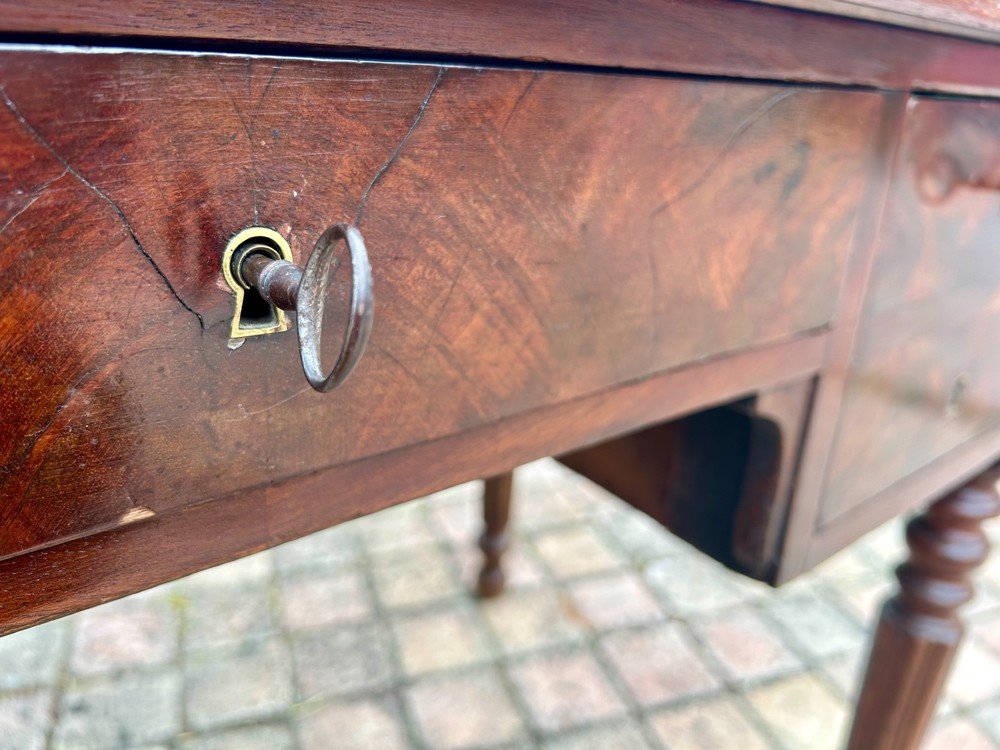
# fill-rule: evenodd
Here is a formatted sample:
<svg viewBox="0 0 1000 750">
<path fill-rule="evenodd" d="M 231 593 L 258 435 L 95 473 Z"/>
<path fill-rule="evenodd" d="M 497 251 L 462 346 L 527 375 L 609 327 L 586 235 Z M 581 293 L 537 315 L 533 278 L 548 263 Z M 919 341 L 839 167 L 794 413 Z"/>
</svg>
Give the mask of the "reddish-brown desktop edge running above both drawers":
<svg viewBox="0 0 1000 750">
<path fill-rule="evenodd" d="M 881 88 L 1000 89 L 995 45 L 730 0 L 286 0 L 266 12 L 231 0 L 4 0 L 0 19 L 10 32 L 101 35 L 112 43 L 277 42 Z"/>
</svg>

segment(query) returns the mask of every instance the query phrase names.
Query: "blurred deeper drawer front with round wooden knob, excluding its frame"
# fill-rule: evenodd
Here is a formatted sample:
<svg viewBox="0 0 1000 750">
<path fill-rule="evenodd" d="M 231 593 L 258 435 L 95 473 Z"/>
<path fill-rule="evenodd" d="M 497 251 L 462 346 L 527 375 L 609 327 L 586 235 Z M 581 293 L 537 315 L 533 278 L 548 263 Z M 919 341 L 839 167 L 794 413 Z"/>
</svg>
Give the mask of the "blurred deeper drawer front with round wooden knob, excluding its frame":
<svg viewBox="0 0 1000 750">
<path fill-rule="evenodd" d="M 1000 428 L 998 134 L 1000 103 L 911 102 L 823 521 Z"/>
</svg>

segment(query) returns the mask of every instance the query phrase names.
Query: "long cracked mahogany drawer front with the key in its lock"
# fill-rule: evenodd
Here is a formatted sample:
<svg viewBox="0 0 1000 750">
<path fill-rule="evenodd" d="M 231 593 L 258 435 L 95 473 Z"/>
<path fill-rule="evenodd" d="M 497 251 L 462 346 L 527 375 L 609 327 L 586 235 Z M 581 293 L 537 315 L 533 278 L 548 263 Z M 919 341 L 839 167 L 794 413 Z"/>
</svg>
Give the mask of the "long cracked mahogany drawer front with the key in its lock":
<svg viewBox="0 0 1000 750">
<path fill-rule="evenodd" d="M 233 56 L 12 51 L 0 84 L 0 555 L 823 328 L 881 106 Z M 376 319 L 320 395 L 294 332 L 229 346 L 220 258 L 336 221 Z"/>
</svg>

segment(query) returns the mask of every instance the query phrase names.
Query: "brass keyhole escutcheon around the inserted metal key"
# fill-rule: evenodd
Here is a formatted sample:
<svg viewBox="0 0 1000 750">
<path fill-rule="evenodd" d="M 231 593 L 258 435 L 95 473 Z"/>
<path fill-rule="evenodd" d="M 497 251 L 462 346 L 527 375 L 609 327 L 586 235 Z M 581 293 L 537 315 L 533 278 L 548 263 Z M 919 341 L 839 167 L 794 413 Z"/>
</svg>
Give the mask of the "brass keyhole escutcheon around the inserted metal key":
<svg viewBox="0 0 1000 750">
<path fill-rule="evenodd" d="M 242 276 L 243 261 L 250 255 L 265 255 L 273 260 L 292 262 L 288 241 L 273 229 L 250 227 L 236 233 L 222 254 L 222 275 L 236 298 L 229 337 L 241 339 L 288 330 L 284 311 L 264 299 Z"/>
</svg>

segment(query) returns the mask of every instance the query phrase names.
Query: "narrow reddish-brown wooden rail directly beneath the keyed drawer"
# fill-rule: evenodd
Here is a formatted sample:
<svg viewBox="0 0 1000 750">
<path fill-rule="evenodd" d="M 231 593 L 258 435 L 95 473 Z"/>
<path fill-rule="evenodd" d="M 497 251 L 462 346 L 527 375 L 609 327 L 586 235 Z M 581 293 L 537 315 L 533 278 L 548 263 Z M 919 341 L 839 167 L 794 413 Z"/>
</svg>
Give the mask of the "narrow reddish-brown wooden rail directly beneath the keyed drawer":
<svg viewBox="0 0 1000 750">
<path fill-rule="evenodd" d="M 0 635 L 484 474 L 808 377 L 826 341 L 819 334 L 733 354 L 9 558 L 0 562 Z M 379 478 L 377 497 L 372 476 Z"/>
</svg>

